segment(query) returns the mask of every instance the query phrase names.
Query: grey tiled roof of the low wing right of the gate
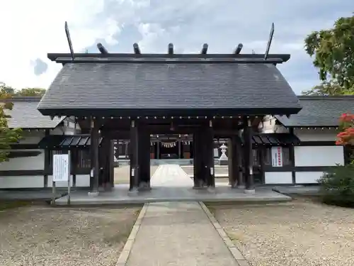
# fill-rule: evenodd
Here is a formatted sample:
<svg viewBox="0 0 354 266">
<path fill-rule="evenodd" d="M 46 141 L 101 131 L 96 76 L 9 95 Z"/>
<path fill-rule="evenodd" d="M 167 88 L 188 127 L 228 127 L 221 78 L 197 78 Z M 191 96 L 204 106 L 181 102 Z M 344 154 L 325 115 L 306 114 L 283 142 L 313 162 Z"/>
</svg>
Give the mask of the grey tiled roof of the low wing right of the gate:
<svg viewBox="0 0 354 266">
<path fill-rule="evenodd" d="M 342 113 L 354 113 L 354 96 L 298 96 L 302 110 L 290 118 L 275 116 L 286 127 L 338 126 Z"/>
</svg>

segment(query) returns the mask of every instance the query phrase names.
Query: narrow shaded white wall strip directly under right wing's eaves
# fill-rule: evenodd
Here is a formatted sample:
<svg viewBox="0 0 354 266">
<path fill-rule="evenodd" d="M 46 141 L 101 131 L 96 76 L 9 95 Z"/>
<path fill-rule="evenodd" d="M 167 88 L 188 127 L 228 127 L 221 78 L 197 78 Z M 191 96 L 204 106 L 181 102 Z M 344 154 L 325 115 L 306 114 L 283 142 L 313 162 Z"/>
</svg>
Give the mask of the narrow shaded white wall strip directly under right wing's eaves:
<svg viewBox="0 0 354 266">
<path fill-rule="evenodd" d="M 336 141 L 337 138 L 337 131 L 334 128 L 295 128 L 294 133 L 301 141 Z"/>
</svg>

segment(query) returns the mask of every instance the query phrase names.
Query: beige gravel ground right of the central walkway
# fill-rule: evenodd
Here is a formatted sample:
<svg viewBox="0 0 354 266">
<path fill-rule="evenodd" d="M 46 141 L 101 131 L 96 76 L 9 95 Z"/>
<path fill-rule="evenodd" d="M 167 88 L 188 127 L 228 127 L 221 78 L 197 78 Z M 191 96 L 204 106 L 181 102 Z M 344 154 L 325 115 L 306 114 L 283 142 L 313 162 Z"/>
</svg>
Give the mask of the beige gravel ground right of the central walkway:
<svg viewBox="0 0 354 266">
<path fill-rule="evenodd" d="M 354 209 L 304 198 L 210 209 L 250 265 L 354 265 Z"/>
</svg>

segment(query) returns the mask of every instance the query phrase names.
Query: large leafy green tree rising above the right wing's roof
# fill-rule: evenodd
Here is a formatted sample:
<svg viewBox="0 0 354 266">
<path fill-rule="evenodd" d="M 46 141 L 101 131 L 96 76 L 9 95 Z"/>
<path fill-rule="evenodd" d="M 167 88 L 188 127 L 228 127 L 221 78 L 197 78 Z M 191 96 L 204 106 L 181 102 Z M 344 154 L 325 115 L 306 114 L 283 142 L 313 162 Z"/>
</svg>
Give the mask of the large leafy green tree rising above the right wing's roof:
<svg viewBox="0 0 354 266">
<path fill-rule="evenodd" d="M 354 16 L 338 18 L 333 28 L 314 31 L 305 39 L 321 84 L 307 95 L 354 94 Z"/>
</svg>

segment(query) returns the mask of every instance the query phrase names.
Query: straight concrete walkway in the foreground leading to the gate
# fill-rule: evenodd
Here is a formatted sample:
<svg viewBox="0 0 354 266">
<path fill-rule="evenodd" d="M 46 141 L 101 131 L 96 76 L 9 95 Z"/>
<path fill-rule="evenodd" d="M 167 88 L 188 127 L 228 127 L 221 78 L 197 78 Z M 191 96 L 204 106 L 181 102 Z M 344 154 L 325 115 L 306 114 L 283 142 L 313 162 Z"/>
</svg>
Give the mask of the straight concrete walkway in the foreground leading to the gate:
<svg viewBox="0 0 354 266">
<path fill-rule="evenodd" d="M 239 265 L 198 202 L 149 203 L 127 266 Z"/>
</svg>

